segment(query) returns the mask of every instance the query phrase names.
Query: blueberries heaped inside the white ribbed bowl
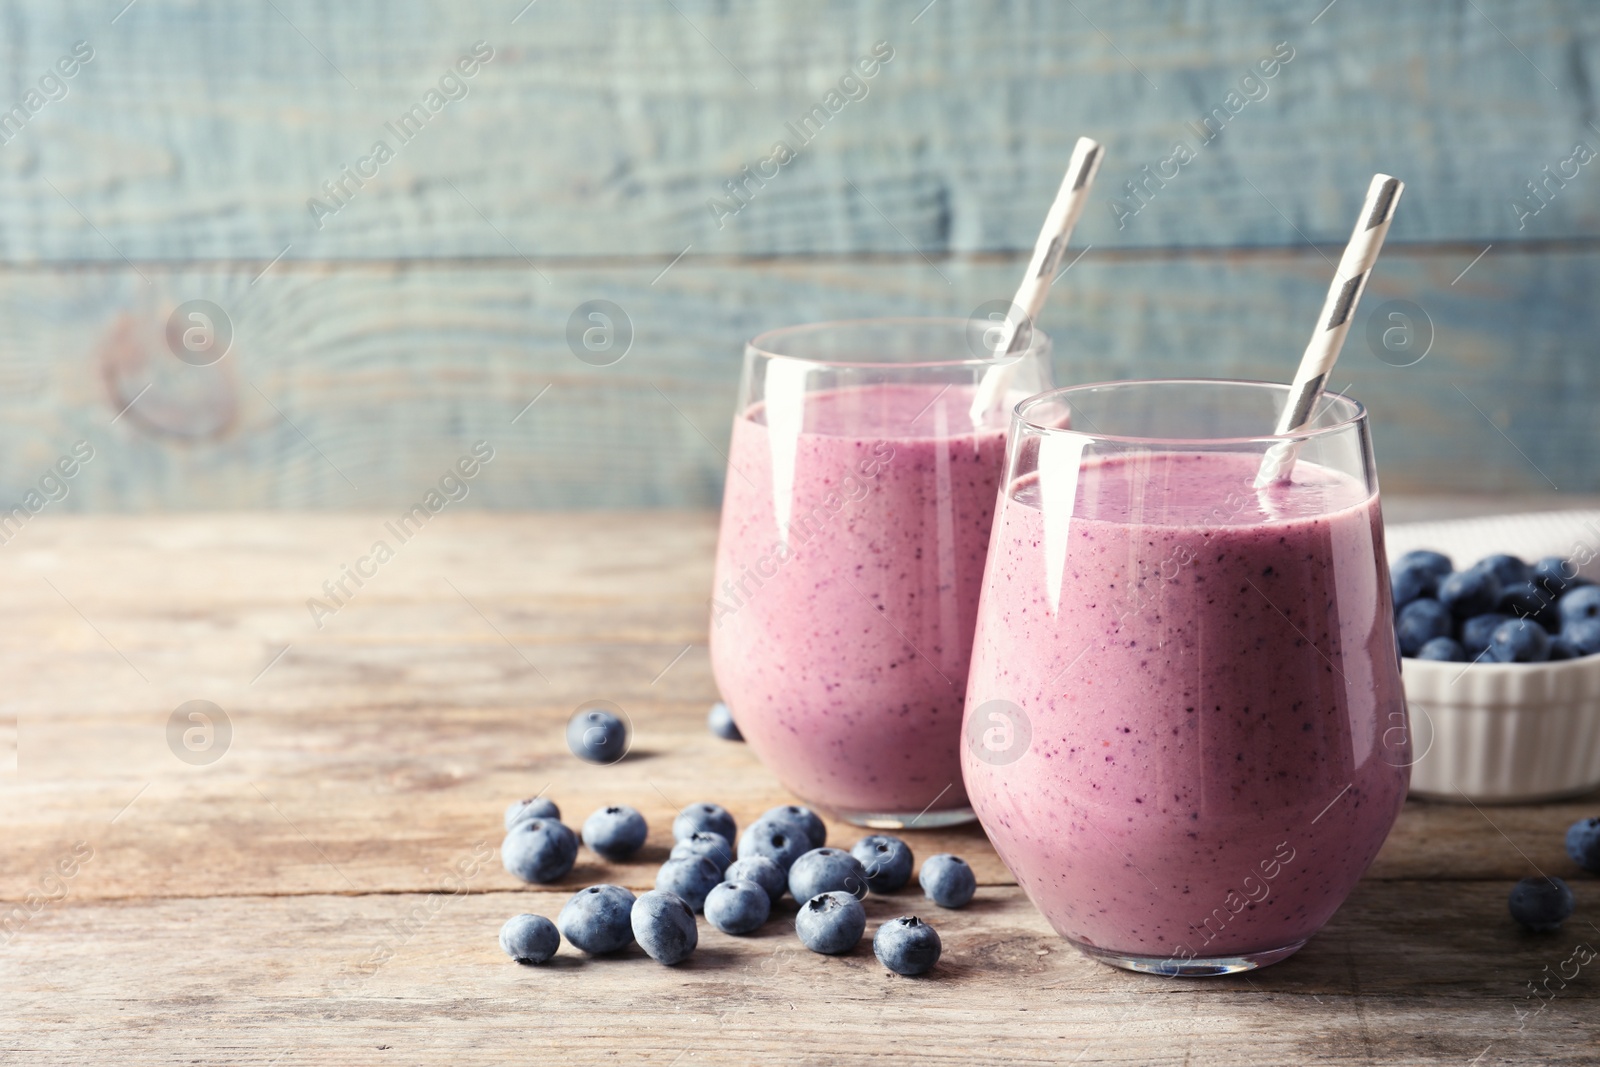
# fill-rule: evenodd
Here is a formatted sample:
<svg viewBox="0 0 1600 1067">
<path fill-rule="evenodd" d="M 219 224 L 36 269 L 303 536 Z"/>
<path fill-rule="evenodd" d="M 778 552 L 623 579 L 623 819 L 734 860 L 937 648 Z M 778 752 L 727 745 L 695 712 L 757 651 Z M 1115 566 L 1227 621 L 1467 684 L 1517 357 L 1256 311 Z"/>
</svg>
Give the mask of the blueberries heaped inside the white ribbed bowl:
<svg viewBox="0 0 1600 1067">
<path fill-rule="evenodd" d="M 1402 656 L 1538 664 L 1600 653 L 1600 585 L 1560 557 L 1530 566 L 1501 553 L 1456 571 L 1418 549 L 1389 577 Z"/>
</svg>

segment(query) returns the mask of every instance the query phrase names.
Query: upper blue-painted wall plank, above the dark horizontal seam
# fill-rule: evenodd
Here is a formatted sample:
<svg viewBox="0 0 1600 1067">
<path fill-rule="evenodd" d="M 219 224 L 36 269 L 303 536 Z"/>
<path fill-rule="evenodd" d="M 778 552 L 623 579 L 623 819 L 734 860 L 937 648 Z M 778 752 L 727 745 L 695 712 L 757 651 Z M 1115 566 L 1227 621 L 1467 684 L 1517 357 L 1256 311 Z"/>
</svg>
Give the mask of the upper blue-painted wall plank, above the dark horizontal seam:
<svg viewBox="0 0 1600 1067">
<path fill-rule="evenodd" d="M 13 0 L 0 107 L 74 42 L 94 58 L 0 149 L 0 258 L 1026 250 L 1083 133 L 1109 149 L 1080 227 L 1099 246 L 1342 242 L 1373 170 L 1410 182 L 1395 242 L 1600 235 L 1587 168 L 1538 216 L 1512 206 L 1574 142 L 1600 147 L 1600 11 L 1574 0 L 1315 21 L 1302 0 L 522 6 L 146 0 L 112 22 L 104 3 Z M 402 142 L 384 123 L 478 40 L 493 59 L 467 94 Z M 800 144 L 786 123 L 880 40 L 893 59 L 866 96 Z M 1242 86 L 1275 50 L 1288 66 Z M 1219 109 L 1206 142 L 1190 123 Z M 707 202 L 781 138 L 798 158 L 718 229 Z M 379 139 L 394 160 L 315 218 Z M 1118 229 L 1112 200 L 1179 141 L 1195 158 Z"/>
</svg>

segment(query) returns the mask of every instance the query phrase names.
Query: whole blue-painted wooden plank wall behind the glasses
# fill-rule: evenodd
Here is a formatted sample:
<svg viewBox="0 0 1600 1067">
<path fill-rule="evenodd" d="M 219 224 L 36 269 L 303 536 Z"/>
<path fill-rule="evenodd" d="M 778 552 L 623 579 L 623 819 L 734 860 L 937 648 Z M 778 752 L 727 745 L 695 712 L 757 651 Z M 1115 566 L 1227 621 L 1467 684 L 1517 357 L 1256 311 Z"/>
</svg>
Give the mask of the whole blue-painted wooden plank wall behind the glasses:
<svg viewBox="0 0 1600 1067">
<path fill-rule="evenodd" d="M 1387 170 L 1334 382 L 1384 485 L 1595 491 L 1597 61 L 1582 0 L 0 3 L 0 501 L 83 440 L 50 507 L 398 507 L 486 440 L 467 506 L 712 506 L 742 341 L 1010 296 L 1078 134 L 1061 381 L 1286 378 Z"/>
</svg>

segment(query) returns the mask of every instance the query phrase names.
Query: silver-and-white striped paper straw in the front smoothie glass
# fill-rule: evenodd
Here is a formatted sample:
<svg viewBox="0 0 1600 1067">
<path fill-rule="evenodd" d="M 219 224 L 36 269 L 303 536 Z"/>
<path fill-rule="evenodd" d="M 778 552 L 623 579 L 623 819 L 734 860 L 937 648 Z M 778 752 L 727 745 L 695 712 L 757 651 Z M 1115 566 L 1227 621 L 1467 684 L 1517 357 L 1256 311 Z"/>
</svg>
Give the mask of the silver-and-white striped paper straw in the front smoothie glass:
<svg viewBox="0 0 1600 1067">
<path fill-rule="evenodd" d="M 1382 251 L 1384 237 L 1389 235 L 1389 224 L 1395 218 L 1395 205 L 1405 182 L 1389 174 L 1373 174 L 1373 184 L 1366 187 L 1366 203 L 1355 221 L 1350 243 L 1344 246 L 1339 267 L 1328 288 L 1328 298 L 1322 304 L 1322 318 L 1317 331 L 1312 333 L 1306 354 L 1301 357 L 1294 384 L 1290 386 L 1288 403 L 1278 416 L 1275 435 L 1293 434 L 1310 422 L 1312 406 L 1322 395 L 1322 387 L 1328 382 L 1328 371 L 1339 358 L 1344 347 L 1344 334 L 1350 331 L 1350 320 L 1355 318 L 1355 306 L 1366 288 L 1366 278 L 1373 274 L 1378 253 Z M 1256 474 L 1256 488 L 1283 482 L 1294 469 L 1294 456 L 1299 451 L 1298 442 L 1278 442 L 1261 458 L 1261 470 Z"/>
</svg>

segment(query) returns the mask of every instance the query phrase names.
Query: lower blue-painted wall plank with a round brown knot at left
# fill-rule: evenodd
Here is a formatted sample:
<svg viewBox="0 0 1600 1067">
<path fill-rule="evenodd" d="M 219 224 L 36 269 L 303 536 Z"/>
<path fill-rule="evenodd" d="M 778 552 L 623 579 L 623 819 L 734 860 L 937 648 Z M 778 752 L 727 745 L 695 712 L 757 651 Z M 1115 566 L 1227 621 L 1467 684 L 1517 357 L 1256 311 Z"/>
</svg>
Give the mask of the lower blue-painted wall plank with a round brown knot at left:
<svg viewBox="0 0 1600 1067">
<path fill-rule="evenodd" d="M 1334 384 L 1371 406 L 1384 486 L 1600 490 L 1589 462 L 1600 365 L 1573 349 L 1600 330 L 1600 253 L 1496 248 L 1451 285 L 1474 254 L 1386 256 L 1339 363 Z M 1315 251 L 1091 251 L 1045 314 L 1058 379 L 1283 379 L 1330 270 Z M 966 315 L 1011 291 L 1016 264 L 683 262 L 659 278 L 618 266 L 550 269 L 549 282 L 525 269 L 280 264 L 254 285 L 229 269 L 142 272 L 149 285 L 125 267 L 3 275 L 0 499 L 85 440 L 94 461 L 46 515 L 400 509 L 486 440 L 496 456 L 470 486 L 474 507 L 714 506 L 746 338 L 821 318 Z M 166 347 L 165 323 L 189 299 L 234 323 L 214 366 Z M 632 323 L 613 366 L 568 347 L 568 320 L 590 299 Z M 1368 344 L 1394 299 L 1434 325 L 1414 366 Z"/>
</svg>

